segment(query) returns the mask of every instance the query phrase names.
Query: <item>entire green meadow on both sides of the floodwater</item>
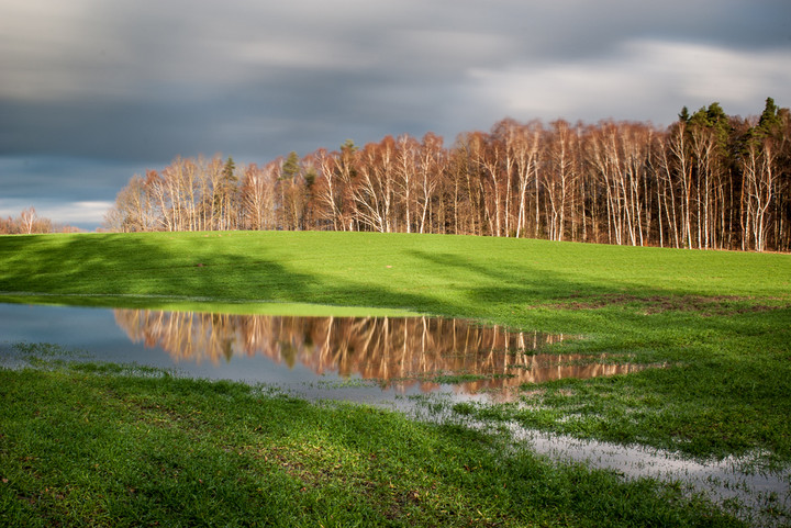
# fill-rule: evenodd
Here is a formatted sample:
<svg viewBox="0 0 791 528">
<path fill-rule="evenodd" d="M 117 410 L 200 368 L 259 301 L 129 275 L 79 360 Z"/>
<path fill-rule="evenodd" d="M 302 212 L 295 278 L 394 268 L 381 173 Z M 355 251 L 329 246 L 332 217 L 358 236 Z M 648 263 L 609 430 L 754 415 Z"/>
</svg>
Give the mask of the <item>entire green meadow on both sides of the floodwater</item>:
<svg viewBox="0 0 791 528">
<path fill-rule="evenodd" d="M 491 422 L 493 429 L 501 420 L 513 420 L 699 459 L 757 453 L 766 463 L 791 461 L 789 255 L 316 232 L 14 236 L 0 238 L 0 301 L 238 313 L 297 303 L 291 310 L 305 314 L 326 306 L 360 314 L 376 308 L 569 334 L 579 338 L 553 350 L 608 353 L 616 362 L 661 368 L 523 386 L 520 404 L 459 404 L 456 413 Z M 302 516 L 299 523 L 324 526 L 370 519 L 396 526 L 735 523 L 694 501 L 668 502 L 664 494 L 673 492 L 666 487 L 620 483 L 611 474 L 555 467 L 523 450 L 505 449 L 495 435 L 416 424 L 365 407 L 309 405 L 234 384 L 130 378 L 108 367 L 96 367 L 101 371 L 96 375 L 82 369 L 0 371 L 3 402 L 18 404 L 0 412 L 0 457 L 8 468 L 0 475 L 0 510 L 30 520 L 46 518 L 35 513 L 44 508 L 63 520 L 66 514 L 58 504 L 76 488 L 82 495 L 74 495 L 75 501 L 104 497 L 90 503 L 86 513 L 96 524 L 107 521 L 110 517 L 102 515 L 110 513 L 136 519 L 129 524 L 145 524 L 151 519 L 135 517 L 143 515 L 135 509 L 143 498 L 129 491 L 142 490 L 145 480 L 144 503 L 160 508 L 152 514 L 154 520 L 189 504 L 169 504 L 157 495 L 178 490 L 226 505 L 218 510 L 224 517 L 216 524 L 294 520 L 285 517 L 288 503 Z M 55 397 L 56 389 L 71 392 Z M 64 430 L 51 430 L 52 419 L 31 415 L 34 407 L 57 416 Z M 105 416 L 104 407 L 115 413 Z M 202 415 L 194 416 L 197 412 Z M 215 422 L 216 427 L 211 425 Z M 143 435 L 133 434 L 135 427 L 155 435 L 151 443 L 135 437 Z M 254 435 L 256 427 L 263 431 Z M 113 428 L 124 431 L 122 440 L 109 437 Z M 44 440 L 22 440 L 31 435 Z M 76 443 L 58 440 L 64 435 L 100 440 L 88 442 L 92 447 L 82 452 Z M 193 453 L 182 449 L 187 445 Z M 157 449 L 167 452 L 156 454 Z M 105 460 L 98 463 L 109 469 L 99 473 L 102 478 L 74 476 L 79 463 L 60 464 L 82 460 L 75 451 L 85 460 Z M 145 462 L 127 467 L 133 462 L 122 460 Z M 159 465 L 163 475 L 149 479 Z M 190 473 L 189 485 L 185 479 L 172 480 L 174 472 Z M 261 481 L 256 475 L 263 473 L 274 488 L 260 493 L 274 497 L 275 513 L 259 521 L 233 517 L 233 512 L 258 504 L 254 498 Z M 100 486 L 113 475 L 123 476 L 123 490 Z M 210 475 L 211 486 L 196 484 Z M 60 490 L 54 496 L 66 498 L 59 502 L 43 491 L 45 476 L 54 483 L 44 487 Z M 86 483 L 77 484 L 80 479 Z M 225 487 L 229 479 L 239 483 L 235 491 Z M 11 491 L 10 483 L 18 487 Z M 495 492 L 500 486 L 508 492 Z M 542 490 L 553 490 L 555 498 Z M 349 493 L 366 498 L 350 505 L 343 501 Z M 436 497 L 433 506 L 423 498 L 428 496 Z M 637 503 L 645 506 L 628 497 L 640 497 Z M 659 503 L 672 505 L 672 512 Z M 181 525 L 189 525 L 189 515 L 204 506 L 185 506 Z M 343 517 L 342 512 L 354 514 Z"/>
</svg>

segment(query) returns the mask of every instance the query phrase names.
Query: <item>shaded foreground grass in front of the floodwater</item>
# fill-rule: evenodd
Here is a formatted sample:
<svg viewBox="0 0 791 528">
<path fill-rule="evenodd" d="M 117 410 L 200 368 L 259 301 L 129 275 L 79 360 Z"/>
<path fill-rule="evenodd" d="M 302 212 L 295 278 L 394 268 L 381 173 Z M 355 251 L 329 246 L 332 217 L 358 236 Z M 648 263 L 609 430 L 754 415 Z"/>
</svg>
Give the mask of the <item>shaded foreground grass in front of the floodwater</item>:
<svg viewBox="0 0 791 528">
<path fill-rule="evenodd" d="M 2 526 L 738 526 L 681 486 L 263 387 L 0 369 Z"/>
</svg>

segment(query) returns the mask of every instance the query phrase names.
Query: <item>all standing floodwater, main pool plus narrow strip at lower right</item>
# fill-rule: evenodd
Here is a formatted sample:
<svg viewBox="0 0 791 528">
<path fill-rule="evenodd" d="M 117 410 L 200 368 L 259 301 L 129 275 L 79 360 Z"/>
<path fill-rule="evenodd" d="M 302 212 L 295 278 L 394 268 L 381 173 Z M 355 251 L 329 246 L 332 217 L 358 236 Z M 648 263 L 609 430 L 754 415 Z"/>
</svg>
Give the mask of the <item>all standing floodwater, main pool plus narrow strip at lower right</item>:
<svg viewBox="0 0 791 528">
<path fill-rule="evenodd" d="M 436 317 L 298 317 L 0 304 L 0 366 L 13 360 L 14 344 L 53 342 L 81 351 L 82 359 L 266 383 L 311 400 L 385 404 L 423 419 L 433 418 L 421 415 L 421 406 L 445 409 L 441 412 L 445 419 L 454 403 L 510 401 L 524 383 L 661 367 L 632 364 L 624 357 L 548 350 L 572 337 Z M 673 453 L 580 441 L 516 426 L 510 432 L 556 460 L 584 462 L 628 478 L 682 482 L 725 507 L 738 504 L 757 526 L 783 526 L 789 520 L 786 514 L 766 514 L 791 507 L 788 469 L 758 470 L 743 460 L 702 463 Z"/>
</svg>

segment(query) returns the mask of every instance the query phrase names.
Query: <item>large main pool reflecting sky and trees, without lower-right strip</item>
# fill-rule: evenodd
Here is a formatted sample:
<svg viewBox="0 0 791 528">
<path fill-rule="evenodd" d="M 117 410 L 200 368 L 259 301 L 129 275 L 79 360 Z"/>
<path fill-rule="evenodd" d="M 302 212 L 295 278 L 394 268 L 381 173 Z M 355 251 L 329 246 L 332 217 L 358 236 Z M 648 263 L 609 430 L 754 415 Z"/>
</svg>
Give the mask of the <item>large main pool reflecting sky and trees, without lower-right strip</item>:
<svg viewBox="0 0 791 528">
<path fill-rule="evenodd" d="M 609 357 L 535 353 L 562 340 L 438 317 L 297 317 L 0 305 L 0 340 L 53 342 L 93 359 L 370 402 L 453 392 L 506 397 L 522 383 L 627 373 Z M 526 352 L 526 353 L 525 353 Z M 467 377 L 448 383 L 447 377 Z M 442 378 L 445 377 L 445 378 Z M 383 383 L 385 389 L 376 382 Z M 461 381 L 461 380 L 456 380 Z"/>
</svg>

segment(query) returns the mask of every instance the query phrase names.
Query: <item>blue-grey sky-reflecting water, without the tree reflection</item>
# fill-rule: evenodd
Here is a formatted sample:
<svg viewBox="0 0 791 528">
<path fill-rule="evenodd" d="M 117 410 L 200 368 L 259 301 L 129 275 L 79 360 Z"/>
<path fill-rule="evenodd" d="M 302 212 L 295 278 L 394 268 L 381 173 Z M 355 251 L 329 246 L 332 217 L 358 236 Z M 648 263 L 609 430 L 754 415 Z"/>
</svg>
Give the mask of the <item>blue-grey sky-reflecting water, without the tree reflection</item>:
<svg viewBox="0 0 791 528">
<path fill-rule="evenodd" d="M 229 379 L 260 382 L 282 387 L 297 396 L 311 400 L 332 398 L 353 402 L 385 404 L 402 411 L 416 411 L 409 397 L 424 392 L 426 386 L 413 383 L 382 390 L 375 382 L 363 381 L 352 373 L 344 379 L 336 370 L 316 374 L 311 368 L 296 361 L 291 368 L 286 361 L 275 361 L 263 353 L 246 355 L 234 350 L 230 361 L 207 358 L 174 359 L 171 353 L 157 346 L 146 347 L 143 340 L 133 342 L 129 330 L 119 326 L 119 312 L 104 308 L 18 305 L 0 303 L 0 364 L 10 353 L 12 342 L 52 342 L 66 349 L 90 352 L 93 359 L 138 363 L 176 369 L 187 375 L 208 379 Z M 167 319 L 167 317 L 166 317 Z M 145 326 L 145 325 L 144 325 Z M 234 348 L 237 348 L 236 346 Z M 628 366 L 625 366 L 628 367 Z M 486 401 L 486 394 L 470 394 L 460 385 L 431 385 L 436 401 Z M 420 408 L 420 405 L 417 406 Z M 420 414 L 420 413 L 417 413 Z M 514 431 L 519 437 L 521 434 Z M 522 431 L 533 449 L 556 459 L 584 461 L 593 467 L 614 469 L 631 476 L 681 479 L 697 490 L 708 493 L 715 501 L 737 497 L 747 505 L 765 526 L 773 526 L 778 519 L 767 519 L 757 506 L 762 494 L 777 493 L 779 503 L 789 507 L 788 469 L 779 474 L 746 474 L 731 463 L 706 463 L 677 459 L 672 453 L 626 448 L 599 442 L 581 441 L 567 437 Z M 756 509 L 753 509 L 756 508 Z M 756 520 L 755 518 L 751 520 Z M 780 517 L 782 523 L 782 517 Z"/>
</svg>

